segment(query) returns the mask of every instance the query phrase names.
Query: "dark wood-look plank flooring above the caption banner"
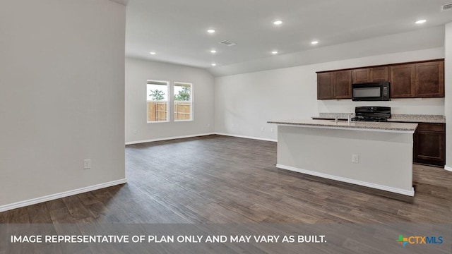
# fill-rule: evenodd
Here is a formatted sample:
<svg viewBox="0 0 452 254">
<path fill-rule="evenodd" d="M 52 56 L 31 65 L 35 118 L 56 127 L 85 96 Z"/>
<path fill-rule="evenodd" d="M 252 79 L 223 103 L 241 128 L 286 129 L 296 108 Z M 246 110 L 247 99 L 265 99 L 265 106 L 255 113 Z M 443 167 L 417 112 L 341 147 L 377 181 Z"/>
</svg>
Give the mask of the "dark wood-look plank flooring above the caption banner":
<svg viewBox="0 0 452 254">
<path fill-rule="evenodd" d="M 128 183 L 0 213 L 0 223 L 452 222 L 452 172 L 415 197 L 277 169 L 276 143 L 209 135 L 126 147 Z"/>
</svg>

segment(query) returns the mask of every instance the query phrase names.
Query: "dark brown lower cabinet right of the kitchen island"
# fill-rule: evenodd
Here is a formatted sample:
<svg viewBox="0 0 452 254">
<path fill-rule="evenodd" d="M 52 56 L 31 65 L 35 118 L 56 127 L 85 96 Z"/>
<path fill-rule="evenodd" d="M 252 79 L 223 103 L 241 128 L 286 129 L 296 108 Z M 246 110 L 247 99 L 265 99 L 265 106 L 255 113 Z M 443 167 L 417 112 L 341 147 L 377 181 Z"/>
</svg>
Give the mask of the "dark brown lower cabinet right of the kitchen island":
<svg viewBox="0 0 452 254">
<path fill-rule="evenodd" d="M 446 124 L 419 123 L 413 136 L 413 162 L 444 167 Z"/>
</svg>

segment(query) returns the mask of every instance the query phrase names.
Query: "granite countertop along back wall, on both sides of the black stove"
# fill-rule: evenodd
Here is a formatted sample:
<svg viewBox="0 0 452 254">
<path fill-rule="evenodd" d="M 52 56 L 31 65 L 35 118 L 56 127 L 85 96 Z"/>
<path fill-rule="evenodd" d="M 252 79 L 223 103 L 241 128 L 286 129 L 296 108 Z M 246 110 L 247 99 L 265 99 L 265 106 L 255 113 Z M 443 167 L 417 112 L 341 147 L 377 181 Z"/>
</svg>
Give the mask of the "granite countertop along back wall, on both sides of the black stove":
<svg viewBox="0 0 452 254">
<path fill-rule="evenodd" d="M 320 113 L 313 119 L 335 119 L 347 120 L 348 115 L 352 117 L 355 113 Z M 410 122 L 410 123 L 446 123 L 446 117 L 443 115 L 420 115 L 420 114 L 392 114 L 388 119 L 391 122 Z"/>
</svg>

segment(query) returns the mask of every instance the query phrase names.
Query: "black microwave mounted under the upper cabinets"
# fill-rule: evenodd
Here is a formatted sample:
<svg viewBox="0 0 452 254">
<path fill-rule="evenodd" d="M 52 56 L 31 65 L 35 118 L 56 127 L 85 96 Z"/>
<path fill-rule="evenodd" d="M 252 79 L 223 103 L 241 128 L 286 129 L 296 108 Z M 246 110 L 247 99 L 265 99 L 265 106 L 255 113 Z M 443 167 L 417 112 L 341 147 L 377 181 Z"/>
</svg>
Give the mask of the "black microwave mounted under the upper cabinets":
<svg viewBox="0 0 452 254">
<path fill-rule="evenodd" d="M 388 101 L 391 100 L 389 82 L 354 83 L 352 100 L 354 101 Z"/>
</svg>

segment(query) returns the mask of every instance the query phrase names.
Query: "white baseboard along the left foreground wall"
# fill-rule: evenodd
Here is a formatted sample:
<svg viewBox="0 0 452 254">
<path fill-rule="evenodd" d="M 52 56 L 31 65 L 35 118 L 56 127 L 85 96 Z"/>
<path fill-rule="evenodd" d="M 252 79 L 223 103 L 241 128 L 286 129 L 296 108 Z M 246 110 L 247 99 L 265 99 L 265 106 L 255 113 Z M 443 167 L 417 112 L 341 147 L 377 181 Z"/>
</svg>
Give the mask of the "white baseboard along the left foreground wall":
<svg viewBox="0 0 452 254">
<path fill-rule="evenodd" d="M 95 186 L 88 186 L 88 187 L 79 188 L 79 189 L 72 190 L 72 191 L 65 191 L 65 192 L 62 192 L 62 193 L 56 193 L 56 194 L 52 194 L 52 195 L 47 195 L 47 196 L 40 197 L 40 198 L 33 198 L 33 199 L 30 199 L 30 200 L 15 202 L 15 203 L 8 204 L 8 205 L 1 205 L 0 206 L 0 212 L 13 210 L 13 209 L 20 208 L 20 207 L 25 207 L 25 206 L 28 206 L 28 205 L 35 205 L 35 204 L 38 204 L 40 202 L 47 202 L 47 201 L 50 201 L 50 200 L 56 200 L 58 198 L 66 198 L 66 197 L 69 197 L 71 195 L 76 195 L 76 194 L 80 194 L 80 193 L 86 193 L 86 192 L 89 192 L 89 191 L 96 191 L 96 190 L 99 190 L 101 188 L 107 188 L 107 187 L 111 187 L 111 186 L 116 186 L 116 185 L 122 184 L 122 183 L 127 183 L 127 180 L 126 179 L 120 179 L 120 180 L 117 180 L 117 181 L 110 181 L 110 182 L 107 182 L 107 183 L 100 183 L 100 184 L 97 184 Z"/>
</svg>

